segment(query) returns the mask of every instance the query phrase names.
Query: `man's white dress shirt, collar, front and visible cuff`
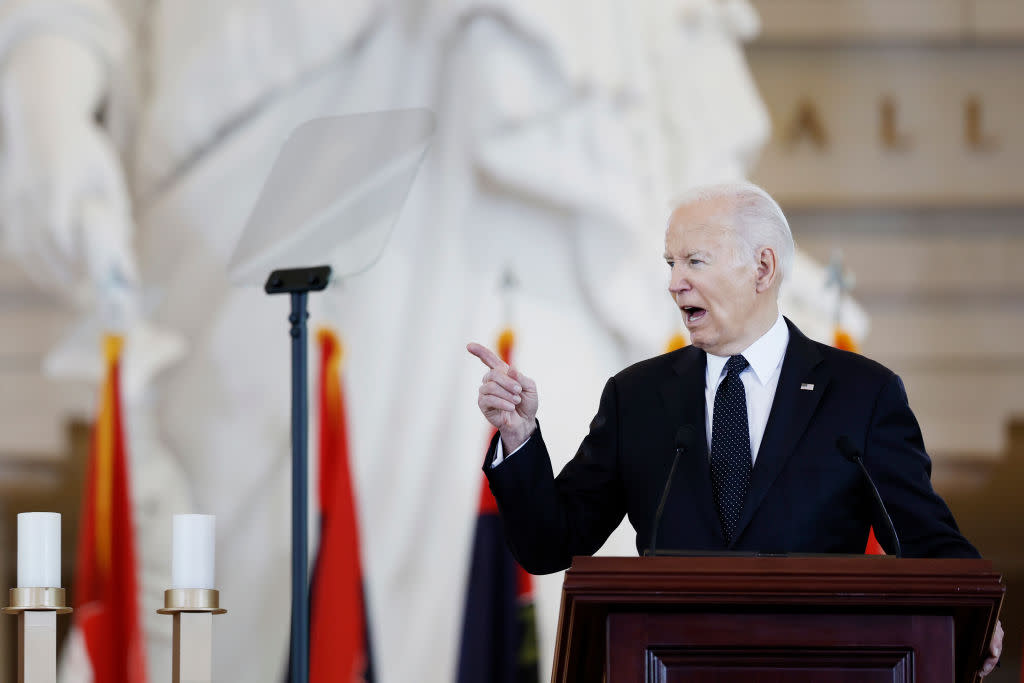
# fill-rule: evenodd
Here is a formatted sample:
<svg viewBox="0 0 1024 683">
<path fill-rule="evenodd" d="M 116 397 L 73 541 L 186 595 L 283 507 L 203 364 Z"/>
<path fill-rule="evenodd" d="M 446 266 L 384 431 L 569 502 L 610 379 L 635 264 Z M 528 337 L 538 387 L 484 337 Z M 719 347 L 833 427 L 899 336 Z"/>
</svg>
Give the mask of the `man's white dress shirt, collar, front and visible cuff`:
<svg viewBox="0 0 1024 683">
<path fill-rule="evenodd" d="M 778 387 L 778 376 L 782 370 L 782 359 L 785 357 L 785 347 L 790 345 L 790 328 L 782 314 L 779 313 L 775 325 L 761 335 L 756 342 L 743 349 L 739 355 L 746 358 L 750 365 L 739 373 L 746 394 L 746 423 L 751 430 L 751 462 L 758 459 L 761 439 L 768 426 L 768 416 L 771 404 L 775 400 L 775 389 Z M 708 354 L 708 369 L 705 374 L 705 419 L 708 433 L 708 453 L 711 454 L 711 431 L 715 423 L 715 394 L 718 386 L 725 379 L 725 364 L 729 356 Z M 526 439 L 528 441 L 529 438 Z M 526 445 L 523 441 L 518 449 L 508 455 L 512 457 L 516 451 Z M 498 439 L 492 467 L 498 467 L 505 460 L 505 449 Z"/>
</svg>

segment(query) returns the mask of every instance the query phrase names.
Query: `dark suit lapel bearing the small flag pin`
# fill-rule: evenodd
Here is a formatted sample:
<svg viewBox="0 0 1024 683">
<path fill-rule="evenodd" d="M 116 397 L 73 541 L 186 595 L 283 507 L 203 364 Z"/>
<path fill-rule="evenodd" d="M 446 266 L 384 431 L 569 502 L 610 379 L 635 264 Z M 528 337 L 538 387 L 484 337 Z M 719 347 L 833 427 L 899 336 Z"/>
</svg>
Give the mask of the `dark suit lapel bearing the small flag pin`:
<svg viewBox="0 0 1024 683">
<path fill-rule="evenodd" d="M 733 544 L 754 518 L 779 472 L 785 466 L 797 441 L 807 430 L 807 425 L 824 394 L 828 377 L 820 367 L 821 353 L 814 342 L 805 337 L 788 319 L 790 344 L 782 360 L 782 371 L 775 389 L 775 399 L 768 416 L 751 474 L 751 488 L 746 494 L 743 512 L 736 525 Z M 813 385 L 813 389 L 801 388 Z"/>
</svg>

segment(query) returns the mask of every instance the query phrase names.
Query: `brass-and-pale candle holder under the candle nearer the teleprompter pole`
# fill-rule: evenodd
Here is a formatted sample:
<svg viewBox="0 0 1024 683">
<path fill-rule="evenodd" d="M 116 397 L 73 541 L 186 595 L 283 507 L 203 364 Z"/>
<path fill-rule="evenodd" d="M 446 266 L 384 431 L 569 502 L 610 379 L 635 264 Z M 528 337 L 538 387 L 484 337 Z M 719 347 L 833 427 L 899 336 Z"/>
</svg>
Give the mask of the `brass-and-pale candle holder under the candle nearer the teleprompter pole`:
<svg viewBox="0 0 1024 683">
<path fill-rule="evenodd" d="M 220 593 L 212 589 L 164 591 L 164 608 L 157 613 L 174 617 L 172 683 L 212 683 L 213 615 L 226 611 L 220 607 Z"/>
</svg>

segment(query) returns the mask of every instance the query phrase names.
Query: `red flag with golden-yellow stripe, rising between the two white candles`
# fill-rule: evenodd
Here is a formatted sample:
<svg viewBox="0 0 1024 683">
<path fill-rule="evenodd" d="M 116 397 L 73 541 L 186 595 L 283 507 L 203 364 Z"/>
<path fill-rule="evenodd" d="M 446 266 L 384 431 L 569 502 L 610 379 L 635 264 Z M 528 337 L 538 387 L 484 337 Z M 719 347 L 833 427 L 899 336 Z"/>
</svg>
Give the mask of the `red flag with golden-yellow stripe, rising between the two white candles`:
<svg viewBox="0 0 1024 683">
<path fill-rule="evenodd" d="M 101 683 L 144 683 L 130 479 L 121 422 L 121 337 L 103 340 L 106 377 L 92 429 L 75 568 L 75 623 Z"/>
</svg>

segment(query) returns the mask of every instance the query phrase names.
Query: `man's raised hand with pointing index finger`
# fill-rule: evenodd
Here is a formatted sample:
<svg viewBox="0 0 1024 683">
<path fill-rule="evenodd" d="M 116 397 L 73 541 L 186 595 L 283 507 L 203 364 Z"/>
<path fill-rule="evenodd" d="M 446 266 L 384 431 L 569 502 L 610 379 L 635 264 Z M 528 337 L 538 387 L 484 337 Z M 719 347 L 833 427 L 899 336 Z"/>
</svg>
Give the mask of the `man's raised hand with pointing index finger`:
<svg viewBox="0 0 1024 683">
<path fill-rule="evenodd" d="M 471 343 L 466 350 L 488 369 L 480 382 L 476 404 L 501 433 L 505 453 L 511 453 L 537 429 L 537 384 L 486 346 Z"/>
</svg>

